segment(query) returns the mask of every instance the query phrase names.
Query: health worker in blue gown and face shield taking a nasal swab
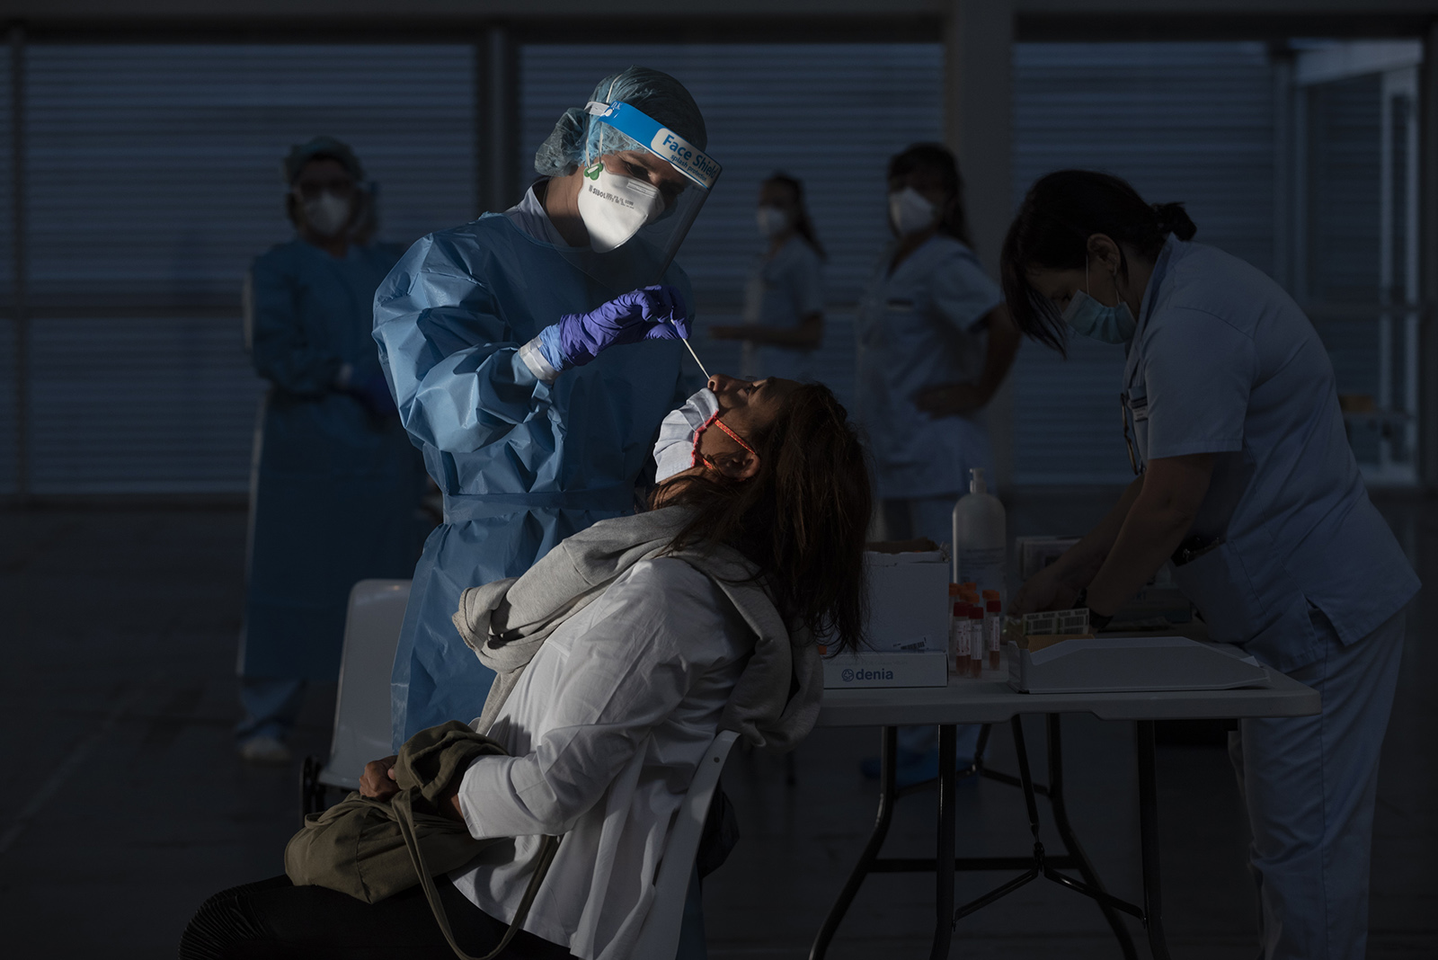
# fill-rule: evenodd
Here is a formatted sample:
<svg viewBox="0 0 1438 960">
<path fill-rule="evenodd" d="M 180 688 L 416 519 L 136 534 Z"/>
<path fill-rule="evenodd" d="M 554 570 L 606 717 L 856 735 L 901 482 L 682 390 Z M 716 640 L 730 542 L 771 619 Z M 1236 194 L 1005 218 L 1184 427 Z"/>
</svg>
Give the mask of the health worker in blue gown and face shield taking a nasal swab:
<svg viewBox="0 0 1438 960">
<path fill-rule="evenodd" d="M 706 142 L 676 79 L 617 73 L 559 118 L 519 204 L 424 237 L 375 295 L 400 417 L 444 494 L 394 660 L 395 749 L 485 703 L 460 592 L 633 510 L 684 400 L 690 292 L 669 260 L 719 174 Z"/>
</svg>

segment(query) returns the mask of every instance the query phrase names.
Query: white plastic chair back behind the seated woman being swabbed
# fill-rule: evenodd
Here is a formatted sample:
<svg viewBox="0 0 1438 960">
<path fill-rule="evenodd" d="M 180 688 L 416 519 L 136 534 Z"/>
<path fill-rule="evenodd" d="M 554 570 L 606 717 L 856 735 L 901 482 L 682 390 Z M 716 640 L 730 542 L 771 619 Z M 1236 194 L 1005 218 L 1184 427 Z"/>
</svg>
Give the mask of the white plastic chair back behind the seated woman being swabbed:
<svg viewBox="0 0 1438 960">
<path fill-rule="evenodd" d="M 684 918 L 689 877 L 699 855 L 699 838 L 705 831 L 709 803 L 719 788 L 719 775 L 723 772 L 725 760 L 729 759 L 729 749 L 738 739 L 739 734 L 733 730 L 716 736 L 695 772 L 689 793 L 684 795 L 684 802 L 674 818 L 669 842 L 664 844 L 664 858 L 654 875 L 654 903 L 650 904 L 628 960 L 674 960 L 679 951 L 679 928 Z"/>
</svg>

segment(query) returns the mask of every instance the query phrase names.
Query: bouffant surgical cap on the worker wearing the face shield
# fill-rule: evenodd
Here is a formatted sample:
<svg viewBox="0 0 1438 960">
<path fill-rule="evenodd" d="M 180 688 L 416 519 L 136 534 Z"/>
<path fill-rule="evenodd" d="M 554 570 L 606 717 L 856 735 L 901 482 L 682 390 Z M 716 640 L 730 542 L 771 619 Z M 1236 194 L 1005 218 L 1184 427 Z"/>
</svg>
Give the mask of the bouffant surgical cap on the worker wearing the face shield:
<svg viewBox="0 0 1438 960">
<path fill-rule="evenodd" d="M 699 149 L 709 147 L 709 134 L 699 105 L 684 85 L 669 73 L 631 66 L 600 80 L 590 99 L 600 103 L 624 101 Z M 554 125 L 549 138 L 539 145 L 535 154 L 535 172 L 545 177 L 567 177 L 585 158 L 613 154 L 617 149 L 644 149 L 644 147 L 591 116 L 582 106 L 571 106 Z"/>
</svg>

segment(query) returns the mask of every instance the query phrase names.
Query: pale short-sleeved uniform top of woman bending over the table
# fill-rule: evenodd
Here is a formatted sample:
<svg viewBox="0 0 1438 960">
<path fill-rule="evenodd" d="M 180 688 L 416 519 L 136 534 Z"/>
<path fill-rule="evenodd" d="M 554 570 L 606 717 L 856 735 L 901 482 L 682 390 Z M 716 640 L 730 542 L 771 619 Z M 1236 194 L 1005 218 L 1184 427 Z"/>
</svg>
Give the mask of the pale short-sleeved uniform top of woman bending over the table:
<svg viewBox="0 0 1438 960">
<path fill-rule="evenodd" d="M 1368 499 L 1333 365 L 1283 287 L 1221 250 L 1169 239 L 1125 368 L 1137 456 L 1221 454 L 1175 568 L 1222 642 L 1278 670 L 1322 654 L 1309 609 L 1345 644 L 1396 614 L 1418 578 Z"/>
</svg>

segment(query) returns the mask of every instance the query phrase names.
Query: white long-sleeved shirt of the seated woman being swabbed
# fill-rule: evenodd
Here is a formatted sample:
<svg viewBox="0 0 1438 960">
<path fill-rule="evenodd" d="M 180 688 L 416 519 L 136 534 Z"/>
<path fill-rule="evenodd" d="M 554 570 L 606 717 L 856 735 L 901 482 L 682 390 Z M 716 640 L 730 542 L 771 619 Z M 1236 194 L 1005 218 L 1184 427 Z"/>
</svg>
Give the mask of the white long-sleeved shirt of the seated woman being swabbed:
<svg viewBox="0 0 1438 960">
<path fill-rule="evenodd" d="M 489 730 L 512 756 L 464 773 L 469 832 L 516 841 L 450 874 L 454 885 L 509 923 L 539 836 L 565 834 L 525 930 L 585 960 L 628 956 L 752 644 L 733 604 L 683 560 L 623 573 L 521 674 Z"/>
</svg>

